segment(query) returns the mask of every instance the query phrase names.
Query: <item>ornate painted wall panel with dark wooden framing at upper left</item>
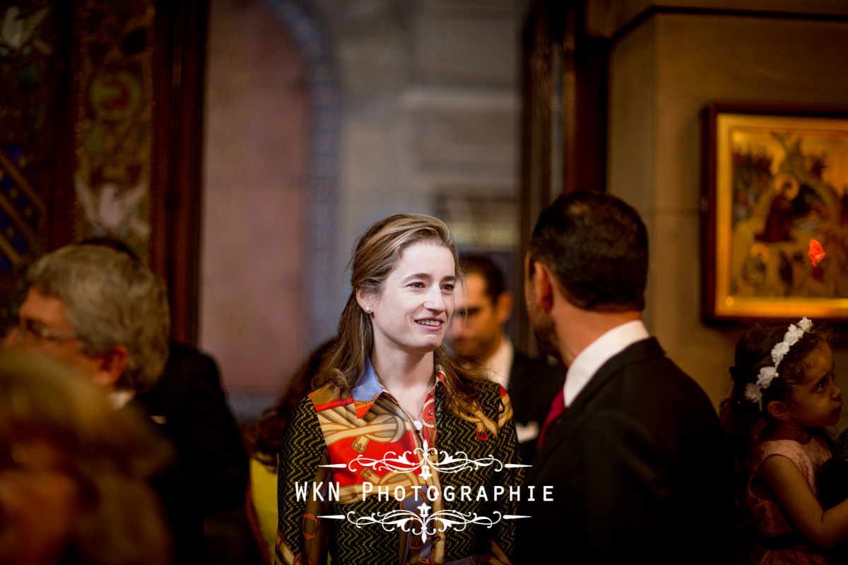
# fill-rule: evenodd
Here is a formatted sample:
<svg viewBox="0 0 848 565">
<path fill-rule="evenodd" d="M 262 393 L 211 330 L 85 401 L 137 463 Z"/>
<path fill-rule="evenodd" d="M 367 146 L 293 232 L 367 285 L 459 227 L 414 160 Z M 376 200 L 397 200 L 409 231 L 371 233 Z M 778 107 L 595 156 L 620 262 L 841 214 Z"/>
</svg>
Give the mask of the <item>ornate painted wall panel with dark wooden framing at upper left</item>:
<svg viewBox="0 0 848 565">
<path fill-rule="evenodd" d="M 0 0 L 0 322 L 42 252 L 126 241 L 197 325 L 206 0 Z"/>
</svg>

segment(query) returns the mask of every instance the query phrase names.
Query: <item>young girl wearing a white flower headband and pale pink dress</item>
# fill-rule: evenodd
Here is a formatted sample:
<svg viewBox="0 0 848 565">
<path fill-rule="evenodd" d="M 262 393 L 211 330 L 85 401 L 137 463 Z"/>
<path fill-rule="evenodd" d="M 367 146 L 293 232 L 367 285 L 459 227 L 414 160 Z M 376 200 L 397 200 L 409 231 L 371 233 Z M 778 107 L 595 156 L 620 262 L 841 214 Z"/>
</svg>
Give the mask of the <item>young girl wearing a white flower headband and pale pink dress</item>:
<svg viewBox="0 0 848 565">
<path fill-rule="evenodd" d="M 756 325 L 736 346 L 722 424 L 734 450 L 739 504 L 756 530 L 751 563 L 826 563 L 848 537 L 848 501 L 823 511 L 815 474 L 831 457 L 825 428 L 840 419 L 830 333 L 797 324 Z"/>
</svg>

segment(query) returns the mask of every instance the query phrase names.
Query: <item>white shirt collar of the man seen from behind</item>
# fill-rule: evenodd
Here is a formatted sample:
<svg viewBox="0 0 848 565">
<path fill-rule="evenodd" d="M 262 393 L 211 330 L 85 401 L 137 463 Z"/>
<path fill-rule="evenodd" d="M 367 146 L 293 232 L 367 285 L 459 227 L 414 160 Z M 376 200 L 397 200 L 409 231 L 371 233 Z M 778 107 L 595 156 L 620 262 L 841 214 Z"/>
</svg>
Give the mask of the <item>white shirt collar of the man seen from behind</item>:
<svg viewBox="0 0 848 565">
<path fill-rule="evenodd" d="M 566 407 L 589 385 L 589 381 L 601 366 L 637 341 L 649 338 L 642 320 L 633 320 L 616 326 L 589 344 L 586 349 L 575 357 L 566 374 L 566 384 L 563 394 Z"/>
</svg>

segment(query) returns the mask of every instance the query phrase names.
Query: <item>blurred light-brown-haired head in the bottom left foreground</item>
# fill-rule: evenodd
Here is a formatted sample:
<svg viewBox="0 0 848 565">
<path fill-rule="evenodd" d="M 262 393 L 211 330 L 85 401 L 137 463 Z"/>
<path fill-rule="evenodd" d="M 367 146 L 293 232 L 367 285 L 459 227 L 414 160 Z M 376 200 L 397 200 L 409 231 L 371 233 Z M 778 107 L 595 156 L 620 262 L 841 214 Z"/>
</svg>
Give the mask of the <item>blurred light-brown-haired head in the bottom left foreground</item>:
<svg viewBox="0 0 848 565">
<path fill-rule="evenodd" d="M 148 478 L 170 448 L 81 375 L 0 355 L 0 562 L 169 562 Z"/>
</svg>

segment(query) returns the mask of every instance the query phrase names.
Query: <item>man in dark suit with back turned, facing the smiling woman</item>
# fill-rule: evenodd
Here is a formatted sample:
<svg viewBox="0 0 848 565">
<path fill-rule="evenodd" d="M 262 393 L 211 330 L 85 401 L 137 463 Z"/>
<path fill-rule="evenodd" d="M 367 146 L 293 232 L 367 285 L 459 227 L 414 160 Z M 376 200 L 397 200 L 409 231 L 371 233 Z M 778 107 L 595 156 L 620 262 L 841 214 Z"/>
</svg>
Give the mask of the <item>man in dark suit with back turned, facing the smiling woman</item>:
<svg viewBox="0 0 848 565">
<path fill-rule="evenodd" d="M 647 273 L 644 224 L 618 198 L 572 192 L 539 216 L 527 310 L 568 373 L 527 469 L 518 562 L 732 562 L 722 429 L 641 321 Z"/>
</svg>

